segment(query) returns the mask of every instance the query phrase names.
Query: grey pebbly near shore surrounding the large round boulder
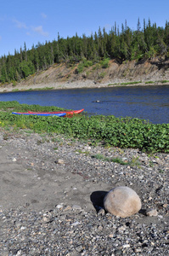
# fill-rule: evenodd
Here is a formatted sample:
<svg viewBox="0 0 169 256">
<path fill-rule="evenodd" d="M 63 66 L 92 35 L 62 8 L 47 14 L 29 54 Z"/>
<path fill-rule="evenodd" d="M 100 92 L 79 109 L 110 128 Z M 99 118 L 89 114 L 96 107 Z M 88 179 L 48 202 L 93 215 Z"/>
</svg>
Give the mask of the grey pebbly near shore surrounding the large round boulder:
<svg viewBox="0 0 169 256">
<path fill-rule="evenodd" d="M 0 153 L 0 255 L 169 255 L 168 154 L 3 130 Z M 140 212 L 104 212 L 117 186 Z"/>
</svg>

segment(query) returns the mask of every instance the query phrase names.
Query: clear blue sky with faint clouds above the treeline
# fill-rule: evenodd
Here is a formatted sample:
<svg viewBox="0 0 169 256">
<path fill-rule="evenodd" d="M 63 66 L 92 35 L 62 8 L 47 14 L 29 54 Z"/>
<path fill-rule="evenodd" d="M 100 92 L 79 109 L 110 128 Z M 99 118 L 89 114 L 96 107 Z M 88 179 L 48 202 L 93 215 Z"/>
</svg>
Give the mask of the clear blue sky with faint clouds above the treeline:
<svg viewBox="0 0 169 256">
<path fill-rule="evenodd" d="M 59 36 L 90 36 L 116 24 L 137 28 L 150 19 L 157 26 L 169 21 L 169 0 L 3 0 L 0 4 L 0 56 L 13 55 L 14 49 L 31 49 L 38 42 Z"/>
</svg>

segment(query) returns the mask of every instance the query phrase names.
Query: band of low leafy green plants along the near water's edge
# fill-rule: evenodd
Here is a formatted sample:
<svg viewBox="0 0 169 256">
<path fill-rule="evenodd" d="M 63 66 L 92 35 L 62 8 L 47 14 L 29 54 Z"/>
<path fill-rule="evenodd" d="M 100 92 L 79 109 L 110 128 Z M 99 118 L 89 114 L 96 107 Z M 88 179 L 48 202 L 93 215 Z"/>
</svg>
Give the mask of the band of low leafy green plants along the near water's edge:
<svg viewBox="0 0 169 256">
<path fill-rule="evenodd" d="M 56 111 L 56 107 L 0 102 L 0 126 L 5 129 L 27 129 L 35 132 L 65 134 L 70 137 L 119 148 L 169 152 L 169 124 L 153 125 L 146 120 L 78 114 L 69 118 L 14 115 L 12 111 Z"/>
</svg>

